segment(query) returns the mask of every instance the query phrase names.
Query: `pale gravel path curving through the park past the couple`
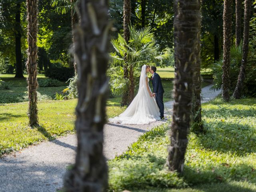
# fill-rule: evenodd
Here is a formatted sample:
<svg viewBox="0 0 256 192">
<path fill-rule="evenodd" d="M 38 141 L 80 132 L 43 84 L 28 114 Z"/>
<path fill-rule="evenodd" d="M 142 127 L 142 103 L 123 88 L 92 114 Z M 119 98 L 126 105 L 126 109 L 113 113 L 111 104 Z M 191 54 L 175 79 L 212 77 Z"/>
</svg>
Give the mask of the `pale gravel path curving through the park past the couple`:
<svg viewBox="0 0 256 192">
<path fill-rule="evenodd" d="M 202 102 L 220 94 L 202 89 Z M 165 117 L 172 110 L 172 101 L 165 103 Z M 138 136 L 166 122 L 148 125 L 106 124 L 104 126 L 104 154 L 111 159 L 122 154 Z M 53 141 L 42 142 L 0 158 L 0 192 L 56 192 L 63 186 L 62 176 L 66 166 L 73 164 L 76 153 L 76 135 L 68 135 Z"/>
</svg>

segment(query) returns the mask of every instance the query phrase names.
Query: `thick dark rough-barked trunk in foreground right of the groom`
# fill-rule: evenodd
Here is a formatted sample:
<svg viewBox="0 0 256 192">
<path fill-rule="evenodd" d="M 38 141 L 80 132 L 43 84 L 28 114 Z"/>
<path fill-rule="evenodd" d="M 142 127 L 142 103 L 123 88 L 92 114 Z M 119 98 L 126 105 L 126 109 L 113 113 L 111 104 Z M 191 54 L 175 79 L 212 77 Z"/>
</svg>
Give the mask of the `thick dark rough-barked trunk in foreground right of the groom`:
<svg viewBox="0 0 256 192">
<path fill-rule="evenodd" d="M 166 161 L 171 171 L 182 172 L 184 168 L 193 94 L 193 68 L 200 25 L 199 10 L 198 0 L 179 0 L 179 13 L 174 21 L 177 27 L 177 69 L 174 78 L 171 144 Z"/>
</svg>

